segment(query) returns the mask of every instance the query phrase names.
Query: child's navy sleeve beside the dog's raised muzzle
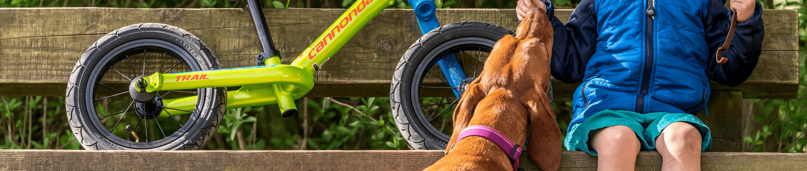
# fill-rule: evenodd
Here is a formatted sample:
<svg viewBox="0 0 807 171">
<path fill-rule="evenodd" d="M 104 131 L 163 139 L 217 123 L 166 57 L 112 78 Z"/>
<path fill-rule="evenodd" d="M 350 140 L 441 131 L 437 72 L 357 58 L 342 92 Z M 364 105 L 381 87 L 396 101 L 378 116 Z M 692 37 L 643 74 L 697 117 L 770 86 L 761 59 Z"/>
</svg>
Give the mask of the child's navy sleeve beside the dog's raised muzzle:
<svg viewBox="0 0 807 171">
<path fill-rule="evenodd" d="M 588 59 L 594 54 L 597 39 L 597 19 L 594 0 L 583 0 L 563 25 L 550 16 L 554 29 L 552 45 L 552 76 L 566 83 L 583 79 Z"/>
</svg>

